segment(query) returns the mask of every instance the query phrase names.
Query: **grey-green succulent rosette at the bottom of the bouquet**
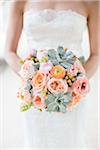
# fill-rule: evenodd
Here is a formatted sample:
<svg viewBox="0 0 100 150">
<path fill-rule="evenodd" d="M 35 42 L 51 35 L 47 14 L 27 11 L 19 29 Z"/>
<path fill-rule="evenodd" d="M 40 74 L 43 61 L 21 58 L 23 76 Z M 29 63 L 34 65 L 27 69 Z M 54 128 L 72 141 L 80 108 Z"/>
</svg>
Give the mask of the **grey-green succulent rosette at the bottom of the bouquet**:
<svg viewBox="0 0 100 150">
<path fill-rule="evenodd" d="M 66 112 L 67 104 L 71 101 L 72 96 L 70 93 L 57 93 L 49 94 L 46 99 L 47 111 L 48 112 Z"/>
</svg>

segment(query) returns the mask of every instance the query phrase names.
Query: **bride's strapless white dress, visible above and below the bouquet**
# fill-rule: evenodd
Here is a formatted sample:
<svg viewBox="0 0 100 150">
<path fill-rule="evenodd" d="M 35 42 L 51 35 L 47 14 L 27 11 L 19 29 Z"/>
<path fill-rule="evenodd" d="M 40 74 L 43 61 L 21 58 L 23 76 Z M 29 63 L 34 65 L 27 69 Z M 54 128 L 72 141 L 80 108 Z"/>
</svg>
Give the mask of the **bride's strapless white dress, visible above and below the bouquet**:
<svg viewBox="0 0 100 150">
<path fill-rule="evenodd" d="M 83 56 L 82 37 L 86 27 L 87 18 L 72 10 L 30 9 L 23 18 L 28 52 L 63 46 L 78 57 Z M 86 150 L 85 99 L 66 114 L 34 109 L 25 112 L 25 147 L 29 150 Z"/>
</svg>

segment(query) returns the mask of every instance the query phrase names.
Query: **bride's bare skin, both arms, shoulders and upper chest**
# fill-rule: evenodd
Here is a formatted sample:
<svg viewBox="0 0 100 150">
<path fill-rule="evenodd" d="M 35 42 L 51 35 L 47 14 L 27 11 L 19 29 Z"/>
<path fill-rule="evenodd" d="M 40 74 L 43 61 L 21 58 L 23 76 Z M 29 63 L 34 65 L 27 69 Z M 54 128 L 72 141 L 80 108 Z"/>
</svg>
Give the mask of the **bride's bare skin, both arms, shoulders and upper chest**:
<svg viewBox="0 0 100 150">
<path fill-rule="evenodd" d="M 32 0 L 33 1 L 33 0 Z M 5 48 L 5 59 L 9 66 L 18 74 L 20 70 L 19 61 L 16 51 L 19 38 L 23 28 L 23 13 L 31 9 L 72 9 L 88 18 L 88 29 L 90 39 L 90 57 L 85 64 L 87 76 L 90 78 L 96 72 L 98 66 L 98 2 L 71 2 L 66 0 L 35 0 L 32 3 L 29 0 L 16 0 L 11 4 L 10 20 L 8 25 L 7 41 Z M 33 35 L 34 36 L 34 35 Z"/>
</svg>

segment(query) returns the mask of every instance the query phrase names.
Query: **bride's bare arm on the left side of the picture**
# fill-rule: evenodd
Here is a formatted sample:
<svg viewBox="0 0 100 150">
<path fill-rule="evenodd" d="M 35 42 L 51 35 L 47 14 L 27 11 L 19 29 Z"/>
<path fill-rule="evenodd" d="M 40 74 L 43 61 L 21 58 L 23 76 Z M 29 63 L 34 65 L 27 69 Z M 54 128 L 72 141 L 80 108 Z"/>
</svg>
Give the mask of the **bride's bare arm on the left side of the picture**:
<svg viewBox="0 0 100 150">
<path fill-rule="evenodd" d="M 7 40 L 5 46 L 5 60 L 8 65 L 18 74 L 20 70 L 17 56 L 17 47 L 23 26 L 23 7 L 25 2 L 11 3 L 10 18 L 7 29 Z"/>
</svg>

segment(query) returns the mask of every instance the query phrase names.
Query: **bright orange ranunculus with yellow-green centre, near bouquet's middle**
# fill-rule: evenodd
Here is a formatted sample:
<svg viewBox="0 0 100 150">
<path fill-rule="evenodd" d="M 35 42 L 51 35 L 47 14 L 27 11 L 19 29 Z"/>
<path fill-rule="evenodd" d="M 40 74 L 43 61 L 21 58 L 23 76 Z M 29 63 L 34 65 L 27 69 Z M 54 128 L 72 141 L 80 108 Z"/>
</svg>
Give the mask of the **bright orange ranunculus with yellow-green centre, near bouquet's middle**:
<svg viewBox="0 0 100 150">
<path fill-rule="evenodd" d="M 58 79 L 64 78 L 65 77 L 65 69 L 60 65 L 56 65 L 52 68 L 51 74 L 54 78 L 58 78 Z"/>
</svg>

